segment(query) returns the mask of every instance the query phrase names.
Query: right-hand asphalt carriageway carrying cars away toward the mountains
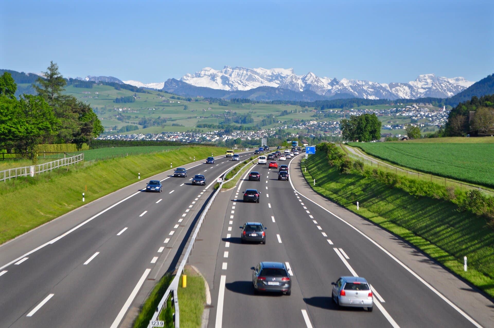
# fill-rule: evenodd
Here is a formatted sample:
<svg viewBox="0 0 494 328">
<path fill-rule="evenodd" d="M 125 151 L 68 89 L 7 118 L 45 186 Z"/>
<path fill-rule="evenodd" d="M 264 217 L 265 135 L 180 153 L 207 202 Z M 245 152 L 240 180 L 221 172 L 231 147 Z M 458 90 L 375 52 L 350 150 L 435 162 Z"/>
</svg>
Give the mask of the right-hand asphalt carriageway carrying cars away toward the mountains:
<svg viewBox="0 0 494 328">
<path fill-rule="evenodd" d="M 300 168 L 295 164 L 299 159 L 293 160 L 290 177 L 298 174 L 300 180 Z M 491 301 L 472 293 L 471 288 L 454 290 L 453 294 L 457 297 L 464 294 L 465 299 L 451 301 L 432 286 L 435 282 L 428 284 L 379 244 L 404 248 L 425 262 L 406 243 L 368 221 L 356 221 L 362 226 L 354 226 L 331 214 L 300 195 L 290 181 L 278 181 L 277 169 L 255 165 L 252 170 L 261 173 L 260 182 L 247 181 L 245 176 L 224 198 L 228 201 L 226 209 L 224 205 L 213 205 L 216 208 L 212 209 L 212 215 L 221 215 L 224 222 L 210 283 L 212 303 L 208 327 L 482 327 L 467 313 L 475 309 L 481 312 L 479 319 L 484 327 L 493 327 Z M 307 188 L 305 182 L 304 187 Z M 246 189 L 261 192 L 259 204 L 242 201 Z M 267 227 L 266 245 L 241 244 L 239 226 L 246 221 L 260 221 Z M 374 241 L 363 229 L 376 230 L 386 240 Z M 292 274 L 291 295 L 254 295 L 251 267 L 259 261 L 287 264 Z M 331 282 L 352 275 L 362 276 L 371 284 L 373 312 L 337 309 L 333 303 Z M 461 283 L 444 270 L 441 275 L 452 286 L 456 284 L 454 281 Z M 457 302 L 468 311 L 456 306 Z"/>
</svg>

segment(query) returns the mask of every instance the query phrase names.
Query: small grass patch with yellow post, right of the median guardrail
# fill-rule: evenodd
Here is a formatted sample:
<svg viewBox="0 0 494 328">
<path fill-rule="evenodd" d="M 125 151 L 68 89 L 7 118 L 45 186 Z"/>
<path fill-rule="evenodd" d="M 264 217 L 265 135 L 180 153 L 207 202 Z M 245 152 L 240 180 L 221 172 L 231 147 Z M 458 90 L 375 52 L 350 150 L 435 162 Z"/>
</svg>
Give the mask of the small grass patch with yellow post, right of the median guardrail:
<svg viewBox="0 0 494 328">
<path fill-rule="evenodd" d="M 187 287 L 182 288 L 182 280 L 178 284 L 178 306 L 180 308 L 180 327 L 201 327 L 204 305 L 206 304 L 206 287 L 201 275 L 184 270 L 187 275 Z"/>
</svg>

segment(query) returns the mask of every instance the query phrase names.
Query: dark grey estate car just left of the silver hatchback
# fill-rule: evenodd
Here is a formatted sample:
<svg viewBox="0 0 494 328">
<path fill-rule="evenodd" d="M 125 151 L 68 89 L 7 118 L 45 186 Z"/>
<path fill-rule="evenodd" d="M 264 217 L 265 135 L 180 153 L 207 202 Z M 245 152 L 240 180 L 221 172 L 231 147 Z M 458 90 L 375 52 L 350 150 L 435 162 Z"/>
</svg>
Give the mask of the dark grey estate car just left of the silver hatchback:
<svg viewBox="0 0 494 328">
<path fill-rule="evenodd" d="M 284 292 L 291 294 L 291 279 L 285 264 L 280 262 L 261 262 L 252 268 L 254 293 L 259 291 Z"/>
</svg>

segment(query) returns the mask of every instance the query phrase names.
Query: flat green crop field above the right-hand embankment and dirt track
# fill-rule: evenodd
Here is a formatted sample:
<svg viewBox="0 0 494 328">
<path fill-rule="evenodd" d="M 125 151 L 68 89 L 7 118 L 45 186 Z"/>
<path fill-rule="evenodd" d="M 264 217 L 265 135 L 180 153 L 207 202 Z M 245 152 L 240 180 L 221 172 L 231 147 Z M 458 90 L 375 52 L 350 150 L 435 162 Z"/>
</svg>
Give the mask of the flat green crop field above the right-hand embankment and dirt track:
<svg viewBox="0 0 494 328">
<path fill-rule="evenodd" d="M 446 140 L 441 139 L 450 138 L 423 139 L 436 142 L 402 141 L 349 145 L 359 147 L 371 156 L 417 171 L 494 187 L 493 143 L 480 143 L 482 139 L 489 141 L 487 138 L 462 138 L 472 140 L 470 143 L 446 143 Z M 479 142 L 475 142 L 476 140 Z"/>
</svg>

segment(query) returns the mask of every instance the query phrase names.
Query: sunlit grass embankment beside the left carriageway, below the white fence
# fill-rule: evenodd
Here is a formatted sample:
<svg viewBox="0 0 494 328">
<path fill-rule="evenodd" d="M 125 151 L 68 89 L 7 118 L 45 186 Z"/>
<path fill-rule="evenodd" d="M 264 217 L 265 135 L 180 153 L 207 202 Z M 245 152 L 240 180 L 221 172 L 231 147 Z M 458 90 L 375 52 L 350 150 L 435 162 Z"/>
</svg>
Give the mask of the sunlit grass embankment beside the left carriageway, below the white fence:
<svg viewBox="0 0 494 328">
<path fill-rule="evenodd" d="M 170 163 L 177 167 L 192 162 L 194 156 L 196 159 L 211 156 L 211 152 L 217 156 L 224 154 L 225 149 L 181 147 L 0 182 L 0 244 L 134 182 L 141 182 L 136 191 L 144 188 L 148 177 L 169 169 Z M 138 173 L 141 180 L 137 179 Z M 85 203 L 82 203 L 82 193 L 85 193 Z"/>
</svg>

